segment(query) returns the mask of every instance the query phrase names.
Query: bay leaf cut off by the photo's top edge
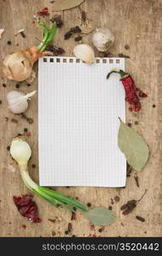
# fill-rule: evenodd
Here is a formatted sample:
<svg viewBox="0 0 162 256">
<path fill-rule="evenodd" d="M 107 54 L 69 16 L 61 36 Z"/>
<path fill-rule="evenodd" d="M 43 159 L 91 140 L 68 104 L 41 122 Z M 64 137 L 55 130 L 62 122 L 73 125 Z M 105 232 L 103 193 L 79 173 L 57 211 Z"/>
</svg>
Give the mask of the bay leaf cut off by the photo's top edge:
<svg viewBox="0 0 162 256">
<path fill-rule="evenodd" d="M 85 0 L 55 0 L 53 2 L 53 11 L 60 11 L 64 9 L 71 9 L 74 8 Z"/>
</svg>

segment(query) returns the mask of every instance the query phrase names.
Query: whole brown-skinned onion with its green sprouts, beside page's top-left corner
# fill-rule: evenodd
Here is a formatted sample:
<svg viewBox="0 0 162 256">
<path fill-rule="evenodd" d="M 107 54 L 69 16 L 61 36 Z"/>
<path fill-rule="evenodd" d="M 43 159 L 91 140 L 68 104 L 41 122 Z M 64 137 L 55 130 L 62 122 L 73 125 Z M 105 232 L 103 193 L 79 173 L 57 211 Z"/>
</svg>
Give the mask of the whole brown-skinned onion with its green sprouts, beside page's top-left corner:
<svg viewBox="0 0 162 256">
<path fill-rule="evenodd" d="M 51 52 L 44 50 L 47 48 L 47 45 L 53 41 L 57 25 L 53 23 L 52 28 L 48 29 L 44 22 L 40 22 L 40 26 L 43 27 L 43 39 L 41 44 L 18 50 L 5 57 L 3 61 L 3 73 L 9 80 L 21 82 L 29 79 L 33 65 L 38 58 L 44 55 L 52 55 Z"/>
</svg>

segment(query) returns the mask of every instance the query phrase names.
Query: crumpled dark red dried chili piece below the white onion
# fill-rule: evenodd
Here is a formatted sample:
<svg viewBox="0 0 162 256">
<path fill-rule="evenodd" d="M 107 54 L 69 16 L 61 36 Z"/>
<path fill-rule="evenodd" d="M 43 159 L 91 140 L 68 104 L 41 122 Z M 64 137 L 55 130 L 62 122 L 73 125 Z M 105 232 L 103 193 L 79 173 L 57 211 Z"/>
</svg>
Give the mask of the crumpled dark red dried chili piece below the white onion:
<svg viewBox="0 0 162 256">
<path fill-rule="evenodd" d="M 38 217 L 36 202 L 32 201 L 31 195 L 13 196 L 13 200 L 22 216 L 33 223 L 42 222 L 42 219 Z"/>
</svg>

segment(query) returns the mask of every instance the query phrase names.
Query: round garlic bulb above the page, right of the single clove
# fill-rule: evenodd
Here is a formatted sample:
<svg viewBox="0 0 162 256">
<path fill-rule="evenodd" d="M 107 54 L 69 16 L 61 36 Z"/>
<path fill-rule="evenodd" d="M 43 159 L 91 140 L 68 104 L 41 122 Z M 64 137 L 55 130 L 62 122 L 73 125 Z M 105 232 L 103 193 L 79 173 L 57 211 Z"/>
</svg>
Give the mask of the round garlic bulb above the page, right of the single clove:
<svg viewBox="0 0 162 256">
<path fill-rule="evenodd" d="M 92 43 L 102 52 L 107 51 L 114 44 L 114 41 L 114 35 L 106 27 L 97 28 L 92 35 Z"/>
</svg>

